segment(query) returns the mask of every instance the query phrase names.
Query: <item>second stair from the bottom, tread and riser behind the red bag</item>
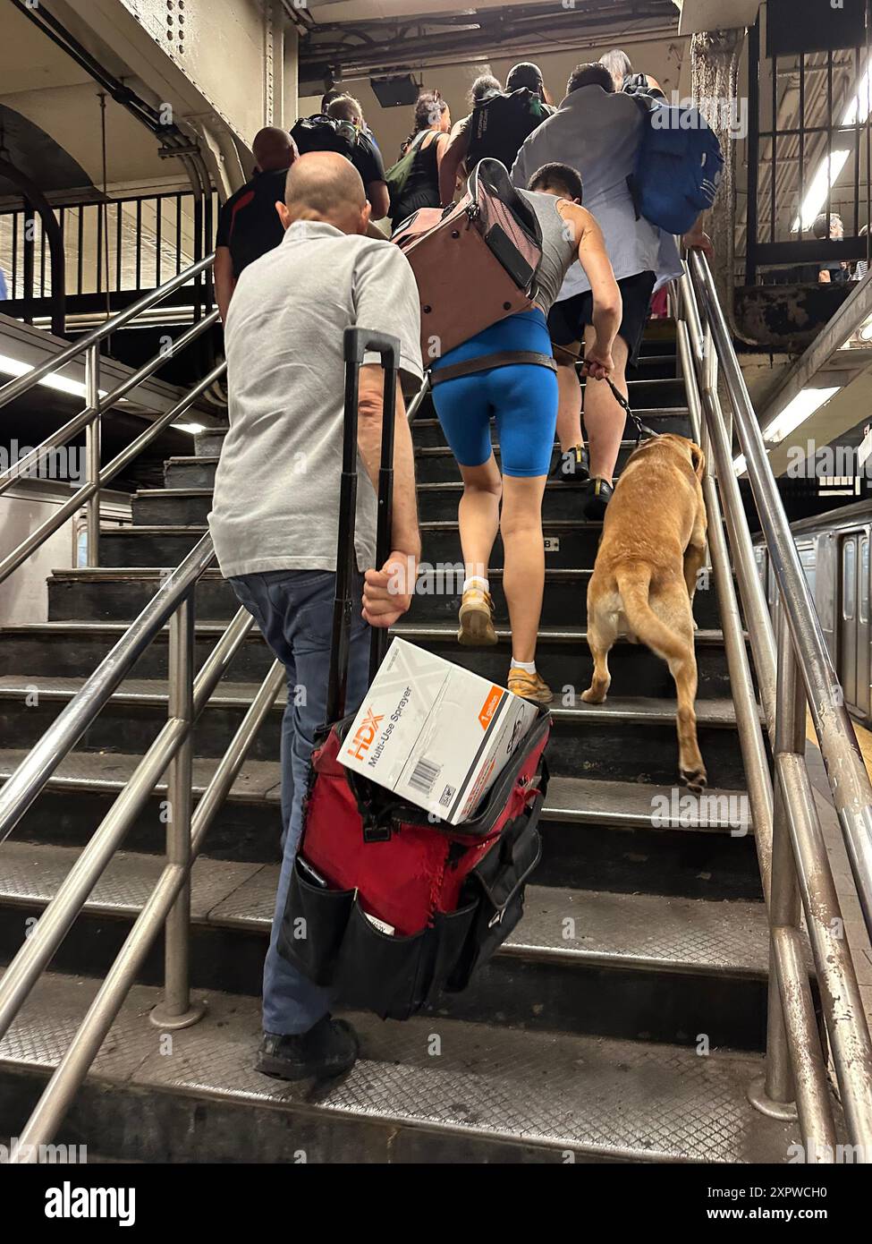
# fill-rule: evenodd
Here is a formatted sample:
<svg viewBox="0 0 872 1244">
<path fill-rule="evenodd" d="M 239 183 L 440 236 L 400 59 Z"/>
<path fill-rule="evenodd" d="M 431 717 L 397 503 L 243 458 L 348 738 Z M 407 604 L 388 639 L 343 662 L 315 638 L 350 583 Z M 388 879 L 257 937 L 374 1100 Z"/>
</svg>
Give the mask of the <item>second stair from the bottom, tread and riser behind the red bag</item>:
<svg viewBox="0 0 872 1244">
<path fill-rule="evenodd" d="M 0 959 L 57 892 L 78 852 L 9 842 L 0 877 Z M 101 975 L 163 867 L 118 853 L 92 891 L 55 970 Z M 192 983 L 256 995 L 277 865 L 198 860 L 192 875 Z M 525 1029 L 758 1049 L 765 1031 L 769 928 L 763 902 L 709 902 L 529 886 L 525 916 L 460 995 L 433 1010 Z M 162 979 L 155 947 L 139 975 Z M 708 1028 L 700 1025 L 708 1024 Z"/>
</svg>

